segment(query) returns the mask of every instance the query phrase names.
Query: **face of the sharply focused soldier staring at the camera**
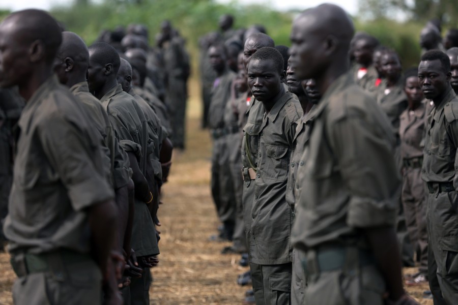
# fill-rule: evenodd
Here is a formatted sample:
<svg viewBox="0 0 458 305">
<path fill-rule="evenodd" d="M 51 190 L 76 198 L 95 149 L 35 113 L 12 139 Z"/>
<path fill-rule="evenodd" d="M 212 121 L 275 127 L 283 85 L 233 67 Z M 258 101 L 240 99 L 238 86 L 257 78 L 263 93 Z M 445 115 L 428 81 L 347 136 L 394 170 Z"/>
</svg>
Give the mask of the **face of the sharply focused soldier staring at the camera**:
<svg viewBox="0 0 458 305">
<path fill-rule="evenodd" d="M 248 87 L 261 102 L 272 100 L 280 92 L 284 78 L 284 71 L 280 74 L 273 60 L 254 59 L 248 64 Z"/>
</svg>

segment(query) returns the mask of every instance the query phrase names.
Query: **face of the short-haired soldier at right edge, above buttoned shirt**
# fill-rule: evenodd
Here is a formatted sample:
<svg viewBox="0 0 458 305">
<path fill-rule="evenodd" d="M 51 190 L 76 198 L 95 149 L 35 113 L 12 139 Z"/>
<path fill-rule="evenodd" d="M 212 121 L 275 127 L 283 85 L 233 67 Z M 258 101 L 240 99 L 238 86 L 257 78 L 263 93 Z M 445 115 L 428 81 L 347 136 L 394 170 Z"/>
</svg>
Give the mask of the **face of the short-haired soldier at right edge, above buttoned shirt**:
<svg viewBox="0 0 458 305">
<path fill-rule="evenodd" d="M 450 72 L 446 73 L 439 59 L 424 60 L 418 66 L 418 80 L 427 99 L 434 100 L 447 90 Z"/>
</svg>

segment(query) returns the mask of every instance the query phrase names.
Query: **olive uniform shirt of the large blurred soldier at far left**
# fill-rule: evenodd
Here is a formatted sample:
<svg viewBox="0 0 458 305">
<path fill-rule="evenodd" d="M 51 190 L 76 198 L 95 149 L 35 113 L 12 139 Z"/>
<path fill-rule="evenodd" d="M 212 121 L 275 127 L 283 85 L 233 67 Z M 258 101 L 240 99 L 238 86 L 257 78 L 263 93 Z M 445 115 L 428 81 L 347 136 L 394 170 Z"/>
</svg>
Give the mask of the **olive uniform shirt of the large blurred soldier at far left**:
<svg viewBox="0 0 458 305">
<path fill-rule="evenodd" d="M 113 199 L 85 111 L 55 76 L 25 105 L 5 235 L 12 253 L 89 253 L 87 208 Z"/>
</svg>

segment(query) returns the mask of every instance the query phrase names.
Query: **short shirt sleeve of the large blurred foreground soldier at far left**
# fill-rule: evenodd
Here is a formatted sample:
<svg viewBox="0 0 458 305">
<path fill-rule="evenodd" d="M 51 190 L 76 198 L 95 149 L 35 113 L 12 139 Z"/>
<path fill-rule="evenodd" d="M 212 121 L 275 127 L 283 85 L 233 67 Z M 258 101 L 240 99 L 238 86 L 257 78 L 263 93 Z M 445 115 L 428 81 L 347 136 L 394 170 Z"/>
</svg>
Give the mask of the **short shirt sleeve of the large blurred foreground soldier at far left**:
<svg viewBox="0 0 458 305">
<path fill-rule="evenodd" d="M 99 168 L 101 147 L 76 123 L 54 115 L 39 127 L 39 138 L 51 170 L 67 188 L 75 210 L 114 198 L 103 168 Z"/>
</svg>

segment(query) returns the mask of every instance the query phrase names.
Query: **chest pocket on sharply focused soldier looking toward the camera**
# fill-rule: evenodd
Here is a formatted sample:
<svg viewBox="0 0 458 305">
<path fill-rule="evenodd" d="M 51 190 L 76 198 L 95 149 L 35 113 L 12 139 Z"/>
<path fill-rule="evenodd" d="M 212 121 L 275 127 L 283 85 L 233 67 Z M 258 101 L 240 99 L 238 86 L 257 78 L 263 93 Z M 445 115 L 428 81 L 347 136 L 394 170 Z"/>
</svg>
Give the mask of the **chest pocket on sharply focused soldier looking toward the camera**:
<svg viewBox="0 0 458 305">
<path fill-rule="evenodd" d="M 261 164 L 263 177 L 274 180 L 285 180 L 291 151 L 287 146 L 264 144 L 265 158 Z"/>
</svg>

